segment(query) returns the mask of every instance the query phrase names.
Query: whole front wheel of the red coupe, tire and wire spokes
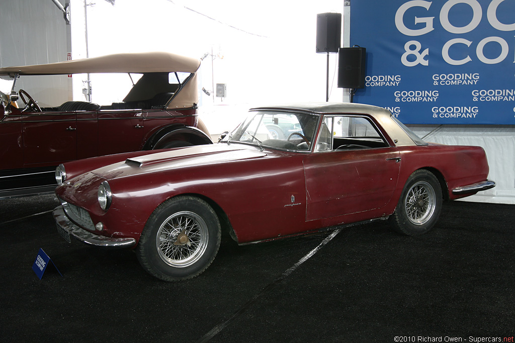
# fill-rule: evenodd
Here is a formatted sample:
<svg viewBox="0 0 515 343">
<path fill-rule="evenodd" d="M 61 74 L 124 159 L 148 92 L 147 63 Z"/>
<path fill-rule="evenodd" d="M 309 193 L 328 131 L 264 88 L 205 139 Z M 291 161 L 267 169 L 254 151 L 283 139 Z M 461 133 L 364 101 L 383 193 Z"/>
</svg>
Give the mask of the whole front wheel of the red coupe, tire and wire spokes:
<svg viewBox="0 0 515 343">
<path fill-rule="evenodd" d="M 220 222 L 209 204 L 194 196 L 167 200 L 143 229 L 136 256 L 152 276 L 191 279 L 213 262 L 220 246 Z"/>
</svg>

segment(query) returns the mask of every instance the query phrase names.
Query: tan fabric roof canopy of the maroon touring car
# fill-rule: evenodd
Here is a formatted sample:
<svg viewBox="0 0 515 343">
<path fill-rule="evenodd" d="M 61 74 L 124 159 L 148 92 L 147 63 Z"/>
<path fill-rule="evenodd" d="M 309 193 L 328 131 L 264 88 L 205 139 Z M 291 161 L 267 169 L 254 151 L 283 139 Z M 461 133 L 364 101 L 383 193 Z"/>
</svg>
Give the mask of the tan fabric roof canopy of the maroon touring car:
<svg viewBox="0 0 515 343">
<path fill-rule="evenodd" d="M 88 59 L 0 68 L 0 76 L 85 73 L 195 73 L 200 60 L 170 52 L 116 53 Z"/>
</svg>

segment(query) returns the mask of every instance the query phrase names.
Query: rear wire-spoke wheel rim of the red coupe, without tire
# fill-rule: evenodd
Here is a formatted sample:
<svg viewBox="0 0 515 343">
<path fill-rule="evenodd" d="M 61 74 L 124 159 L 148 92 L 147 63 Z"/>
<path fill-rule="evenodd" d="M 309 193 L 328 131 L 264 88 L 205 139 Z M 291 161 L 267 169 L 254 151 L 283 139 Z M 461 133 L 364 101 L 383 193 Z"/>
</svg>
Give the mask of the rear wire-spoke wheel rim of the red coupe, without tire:
<svg viewBox="0 0 515 343">
<path fill-rule="evenodd" d="M 421 181 L 413 185 L 404 201 L 409 221 L 415 225 L 423 225 L 429 221 L 436 207 L 436 193 L 427 182 Z"/>
</svg>

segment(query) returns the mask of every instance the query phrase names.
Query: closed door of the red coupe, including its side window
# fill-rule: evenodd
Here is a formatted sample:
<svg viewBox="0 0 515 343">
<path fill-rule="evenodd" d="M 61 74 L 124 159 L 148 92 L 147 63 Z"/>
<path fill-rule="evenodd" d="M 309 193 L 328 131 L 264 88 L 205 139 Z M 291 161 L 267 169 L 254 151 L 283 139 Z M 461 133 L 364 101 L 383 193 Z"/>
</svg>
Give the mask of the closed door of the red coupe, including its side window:
<svg viewBox="0 0 515 343">
<path fill-rule="evenodd" d="M 397 149 L 388 145 L 367 118 L 360 120 L 360 125 L 365 123 L 367 127 L 367 136 L 360 137 L 357 130 L 357 136 L 342 139 L 355 139 L 370 146 L 338 149 L 335 145 L 340 119 L 341 116 L 324 118 L 316 151 L 304 159 L 306 221 L 379 209 L 396 189 L 400 169 Z M 349 131 L 348 125 L 345 130 Z"/>
</svg>

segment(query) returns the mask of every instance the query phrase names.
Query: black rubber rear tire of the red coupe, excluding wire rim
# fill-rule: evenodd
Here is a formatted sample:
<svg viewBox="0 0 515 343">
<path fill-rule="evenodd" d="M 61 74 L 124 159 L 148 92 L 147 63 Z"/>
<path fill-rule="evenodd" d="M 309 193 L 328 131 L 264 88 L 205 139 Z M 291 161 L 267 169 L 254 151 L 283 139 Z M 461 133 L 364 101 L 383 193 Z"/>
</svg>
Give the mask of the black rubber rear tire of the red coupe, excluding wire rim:
<svg viewBox="0 0 515 343">
<path fill-rule="evenodd" d="M 432 218 L 425 224 L 415 225 L 411 223 L 406 214 L 405 198 L 409 189 L 416 183 L 425 181 L 430 184 L 435 191 L 435 211 L 433 212 Z M 438 221 L 440 211 L 442 208 L 442 189 L 436 176 L 425 169 L 419 169 L 409 175 L 402 190 L 399 203 L 395 209 L 395 212 L 390 216 L 389 221 L 394 231 L 397 231 L 408 236 L 419 236 L 430 231 Z"/>
</svg>

